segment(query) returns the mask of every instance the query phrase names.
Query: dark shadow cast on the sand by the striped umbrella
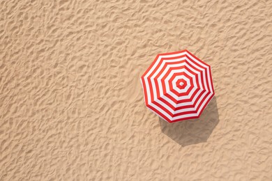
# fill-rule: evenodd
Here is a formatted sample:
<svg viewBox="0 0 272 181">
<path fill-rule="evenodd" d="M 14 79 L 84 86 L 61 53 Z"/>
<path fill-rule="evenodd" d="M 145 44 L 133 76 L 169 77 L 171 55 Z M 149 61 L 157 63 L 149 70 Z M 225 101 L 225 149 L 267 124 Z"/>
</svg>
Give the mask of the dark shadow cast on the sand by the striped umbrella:
<svg viewBox="0 0 272 181">
<path fill-rule="evenodd" d="M 197 119 L 168 123 L 163 118 L 159 118 L 159 121 L 163 134 L 179 145 L 186 146 L 206 142 L 219 123 L 216 97 L 213 97 Z"/>
</svg>

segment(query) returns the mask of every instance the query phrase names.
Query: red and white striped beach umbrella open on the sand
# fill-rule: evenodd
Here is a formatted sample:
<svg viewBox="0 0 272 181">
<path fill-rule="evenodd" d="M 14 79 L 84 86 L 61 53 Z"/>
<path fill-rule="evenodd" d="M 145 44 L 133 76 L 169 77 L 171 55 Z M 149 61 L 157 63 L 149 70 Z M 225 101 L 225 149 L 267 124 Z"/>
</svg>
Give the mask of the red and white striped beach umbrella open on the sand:
<svg viewBox="0 0 272 181">
<path fill-rule="evenodd" d="M 169 123 L 199 118 L 214 95 L 211 66 L 188 50 L 158 54 L 141 81 L 146 107 Z"/>
</svg>

